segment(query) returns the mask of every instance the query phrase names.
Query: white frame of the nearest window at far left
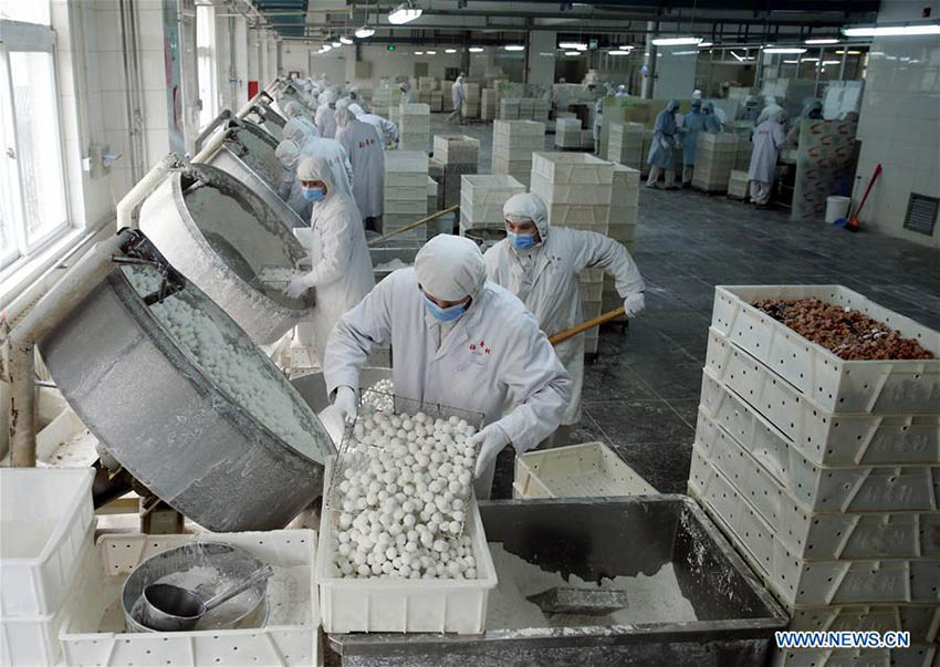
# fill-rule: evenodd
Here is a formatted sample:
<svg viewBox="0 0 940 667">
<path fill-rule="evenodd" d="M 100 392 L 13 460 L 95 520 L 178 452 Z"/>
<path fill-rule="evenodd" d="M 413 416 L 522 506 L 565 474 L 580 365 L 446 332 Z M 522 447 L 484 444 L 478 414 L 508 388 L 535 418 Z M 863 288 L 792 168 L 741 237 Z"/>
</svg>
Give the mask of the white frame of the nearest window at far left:
<svg viewBox="0 0 940 667">
<path fill-rule="evenodd" d="M 69 178 L 66 174 L 65 149 L 62 140 L 62 101 L 59 95 L 59 59 L 55 52 L 55 31 L 50 25 L 39 23 L 24 23 L 22 21 L 11 21 L 8 19 L 0 20 L 0 91 L 6 94 L 0 100 L 0 104 L 6 106 L 6 111 L 0 114 L 0 122 L 4 122 L 6 132 L 10 135 L 10 144 L 14 152 L 12 159 L 15 166 L 11 171 L 15 174 L 15 194 L 13 196 L 13 210 L 17 213 L 13 218 L 13 241 L 14 248 L 4 252 L 0 252 L 0 274 L 6 274 L 21 262 L 27 261 L 30 256 L 42 250 L 51 242 L 63 237 L 72 229 L 72 210 L 71 197 L 69 192 Z M 12 66 L 10 64 L 11 53 L 22 52 L 43 52 L 50 55 L 52 63 L 52 90 L 53 90 L 53 117 L 55 119 L 54 144 L 59 147 L 59 166 L 61 169 L 61 179 L 64 191 L 62 196 L 65 200 L 65 217 L 62 221 L 51 226 L 49 229 L 30 239 L 27 229 L 27 220 L 23 210 L 23 173 L 22 163 L 20 160 L 20 137 L 17 132 L 17 105 L 13 94 L 13 76 Z M 3 147 L 3 152 L 6 153 Z M 0 155 L 0 159 L 9 159 L 6 155 Z"/>
</svg>

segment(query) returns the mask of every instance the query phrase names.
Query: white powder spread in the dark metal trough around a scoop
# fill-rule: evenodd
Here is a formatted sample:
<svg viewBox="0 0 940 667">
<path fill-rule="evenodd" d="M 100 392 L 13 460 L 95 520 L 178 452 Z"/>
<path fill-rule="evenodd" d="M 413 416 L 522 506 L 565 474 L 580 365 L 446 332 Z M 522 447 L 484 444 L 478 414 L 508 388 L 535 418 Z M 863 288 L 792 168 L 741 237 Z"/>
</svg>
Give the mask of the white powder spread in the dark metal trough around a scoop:
<svg viewBox="0 0 940 667">
<path fill-rule="evenodd" d="M 546 572 L 508 552 L 502 543 L 490 543 L 499 585 L 490 591 L 487 628 L 520 629 L 584 625 L 631 625 L 637 623 L 679 623 L 697 621 L 696 611 L 682 595 L 672 563 L 665 563 L 652 576 L 617 576 L 604 579 L 600 588 L 626 591 L 626 608 L 606 616 L 571 616 L 544 614 L 526 600 L 555 586 L 588 587 L 596 585 L 577 575 L 565 581 L 557 572 Z"/>
</svg>

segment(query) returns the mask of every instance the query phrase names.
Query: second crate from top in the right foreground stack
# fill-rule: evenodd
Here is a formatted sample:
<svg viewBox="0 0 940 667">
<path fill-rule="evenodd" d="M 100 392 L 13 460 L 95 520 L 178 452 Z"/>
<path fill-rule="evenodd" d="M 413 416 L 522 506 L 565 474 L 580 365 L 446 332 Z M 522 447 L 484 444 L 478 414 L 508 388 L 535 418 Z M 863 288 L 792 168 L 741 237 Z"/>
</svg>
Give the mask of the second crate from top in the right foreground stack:
<svg viewBox="0 0 940 667">
<path fill-rule="evenodd" d="M 731 389 L 739 400 L 730 399 L 727 392 L 714 385 Z M 937 456 L 940 417 L 827 413 L 710 329 L 701 403 L 709 415 L 716 416 L 729 409 L 724 404 L 740 399 L 783 431 L 812 461 L 936 463 L 940 460 Z"/>
</svg>

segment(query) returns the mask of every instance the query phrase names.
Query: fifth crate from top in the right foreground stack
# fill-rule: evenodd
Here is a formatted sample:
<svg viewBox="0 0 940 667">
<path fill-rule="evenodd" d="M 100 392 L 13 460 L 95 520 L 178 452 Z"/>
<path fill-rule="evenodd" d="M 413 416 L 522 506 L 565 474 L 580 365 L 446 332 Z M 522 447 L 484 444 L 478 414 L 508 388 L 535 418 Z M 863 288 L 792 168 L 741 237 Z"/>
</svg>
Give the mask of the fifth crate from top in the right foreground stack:
<svg viewBox="0 0 940 667">
<path fill-rule="evenodd" d="M 769 590 L 788 608 L 831 604 L 938 604 L 940 559 L 870 559 L 805 561 L 786 549 L 776 534 L 755 530 L 737 514 L 731 521 L 704 500 L 699 480 L 721 476 L 692 450 L 689 494 L 698 499 L 712 520 L 729 535 Z M 727 482 L 725 483 L 730 483 Z M 748 514 L 753 519 L 754 513 Z M 742 532 L 738 532 L 738 531 Z"/>
</svg>

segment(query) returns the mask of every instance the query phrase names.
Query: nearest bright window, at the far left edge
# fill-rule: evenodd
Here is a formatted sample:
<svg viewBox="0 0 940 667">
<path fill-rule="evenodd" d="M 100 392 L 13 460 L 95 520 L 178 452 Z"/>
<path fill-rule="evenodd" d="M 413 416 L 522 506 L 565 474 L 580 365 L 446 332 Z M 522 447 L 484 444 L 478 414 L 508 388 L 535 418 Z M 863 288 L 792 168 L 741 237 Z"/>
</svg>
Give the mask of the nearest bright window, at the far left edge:
<svg viewBox="0 0 940 667">
<path fill-rule="evenodd" d="M 0 20 L 0 269 L 69 229 L 55 37 L 49 3 L 3 3 Z M 44 21 L 46 24 L 7 20 Z"/>
</svg>

